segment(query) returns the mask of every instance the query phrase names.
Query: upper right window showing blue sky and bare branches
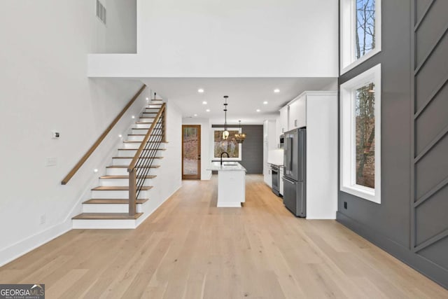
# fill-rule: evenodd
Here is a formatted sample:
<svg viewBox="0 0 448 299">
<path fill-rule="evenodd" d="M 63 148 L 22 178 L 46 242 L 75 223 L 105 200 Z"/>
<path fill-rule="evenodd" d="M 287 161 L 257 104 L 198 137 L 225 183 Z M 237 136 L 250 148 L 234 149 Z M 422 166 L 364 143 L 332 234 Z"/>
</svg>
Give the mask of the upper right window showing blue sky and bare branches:
<svg viewBox="0 0 448 299">
<path fill-rule="evenodd" d="M 341 74 L 381 51 L 381 0 L 341 0 Z"/>
</svg>

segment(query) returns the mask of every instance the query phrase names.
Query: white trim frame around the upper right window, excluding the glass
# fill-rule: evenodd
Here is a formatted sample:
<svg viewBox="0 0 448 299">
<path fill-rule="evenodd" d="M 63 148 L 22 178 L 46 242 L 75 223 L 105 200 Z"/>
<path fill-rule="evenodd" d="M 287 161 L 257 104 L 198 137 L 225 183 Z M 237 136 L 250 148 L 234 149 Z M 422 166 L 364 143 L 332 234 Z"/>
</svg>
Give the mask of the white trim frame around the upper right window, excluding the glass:
<svg viewBox="0 0 448 299">
<path fill-rule="evenodd" d="M 357 60 L 354 58 L 356 0 L 341 0 L 340 3 L 339 74 L 342 75 L 381 52 L 381 0 L 375 0 L 375 48 Z"/>
</svg>

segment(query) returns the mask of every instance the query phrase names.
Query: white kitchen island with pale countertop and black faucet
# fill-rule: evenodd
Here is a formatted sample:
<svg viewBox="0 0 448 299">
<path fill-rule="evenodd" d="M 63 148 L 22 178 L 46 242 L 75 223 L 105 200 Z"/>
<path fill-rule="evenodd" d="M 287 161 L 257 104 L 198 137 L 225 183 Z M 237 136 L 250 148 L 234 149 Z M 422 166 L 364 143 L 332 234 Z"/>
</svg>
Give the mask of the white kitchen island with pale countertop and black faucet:
<svg viewBox="0 0 448 299">
<path fill-rule="evenodd" d="M 207 170 L 218 172 L 217 207 L 241 207 L 246 201 L 246 169 L 238 162 L 211 162 Z"/>
</svg>

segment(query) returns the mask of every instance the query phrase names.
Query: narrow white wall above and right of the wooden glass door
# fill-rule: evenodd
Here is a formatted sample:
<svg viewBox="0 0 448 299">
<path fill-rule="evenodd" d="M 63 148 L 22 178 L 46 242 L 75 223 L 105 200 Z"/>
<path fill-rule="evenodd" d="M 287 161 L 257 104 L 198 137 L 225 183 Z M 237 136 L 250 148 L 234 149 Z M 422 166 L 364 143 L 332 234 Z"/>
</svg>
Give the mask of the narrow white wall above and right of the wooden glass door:
<svg viewBox="0 0 448 299">
<path fill-rule="evenodd" d="M 201 126 L 201 180 L 211 179 L 211 171 L 207 170 L 211 162 L 210 137 L 211 123 L 209 118 L 182 118 L 183 125 Z"/>
</svg>

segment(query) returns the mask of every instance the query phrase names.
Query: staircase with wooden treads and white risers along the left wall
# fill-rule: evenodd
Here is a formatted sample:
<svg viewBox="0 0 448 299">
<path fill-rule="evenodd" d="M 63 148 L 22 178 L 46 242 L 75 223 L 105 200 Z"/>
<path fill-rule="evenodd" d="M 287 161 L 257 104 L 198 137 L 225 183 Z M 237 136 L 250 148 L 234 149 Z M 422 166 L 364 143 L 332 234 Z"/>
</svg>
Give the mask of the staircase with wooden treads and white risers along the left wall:
<svg viewBox="0 0 448 299">
<path fill-rule="evenodd" d="M 145 204 L 151 200 L 151 182 L 157 177 L 160 161 L 163 159 L 162 153 L 166 150 L 162 117 L 155 124 L 152 134 L 148 137 L 146 134 L 162 105 L 162 100 L 148 103 L 139 120 L 130 129 L 130 134 L 127 134 L 127 139 L 118 148 L 117 155 L 112 158 L 112 164 L 106 167 L 106 174 L 99 177 L 99 186 L 92 188 L 91 198 L 83 202 L 83 213 L 72 218 L 73 228 L 137 228 L 144 220 L 142 215 Z M 139 182 L 139 187 L 137 192 L 136 186 L 132 189 L 136 195 L 134 212 L 130 209 L 128 167 L 145 138 L 148 142 L 144 146 L 151 147 L 151 150 L 145 149 L 138 158 L 139 171 L 135 181 Z"/>
</svg>

